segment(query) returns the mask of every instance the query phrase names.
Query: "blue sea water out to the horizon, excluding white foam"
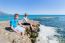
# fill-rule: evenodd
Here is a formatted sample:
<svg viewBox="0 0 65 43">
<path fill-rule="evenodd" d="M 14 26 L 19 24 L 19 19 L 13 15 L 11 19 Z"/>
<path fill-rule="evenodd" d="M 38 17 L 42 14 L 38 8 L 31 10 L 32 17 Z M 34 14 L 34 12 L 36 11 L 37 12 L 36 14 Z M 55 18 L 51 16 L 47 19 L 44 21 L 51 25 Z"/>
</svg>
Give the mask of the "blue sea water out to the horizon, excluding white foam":
<svg viewBox="0 0 65 43">
<path fill-rule="evenodd" d="M 0 16 L 0 21 L 10 20 L 14 16 Z M 19 19 L 23 19 L 23 15 Z M 60 37 L 65 38 L 65 15 L 29 15 L 29 19 L 37 20 L 40 24 L 57 28 L 57 33 L 61 34 Z"/>
</svg>

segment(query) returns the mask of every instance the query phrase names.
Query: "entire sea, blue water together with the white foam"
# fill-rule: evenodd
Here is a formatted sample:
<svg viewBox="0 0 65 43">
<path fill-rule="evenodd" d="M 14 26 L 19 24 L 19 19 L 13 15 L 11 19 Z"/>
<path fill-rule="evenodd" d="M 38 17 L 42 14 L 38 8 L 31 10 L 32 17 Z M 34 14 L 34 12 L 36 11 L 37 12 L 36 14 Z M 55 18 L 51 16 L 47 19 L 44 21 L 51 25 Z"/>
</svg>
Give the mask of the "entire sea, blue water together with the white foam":
<svg viewBox="0 0 65 43">
<path fill-rule="evenodd" d="M 13 17 L 13 15 L 3 15 L 0 16 L 0 21 L 10 20 Z M 20 15 L 19 19 L 21 20 L 23 17 L 23 15 Z M 46 41 L 44 43 L 65 43 L 65 15 L 29 15 L 28 18 L 31 20 L 39 21 L 39 35 L 43 34 L 41 35 L 41 38 L 46 37 L 43 38 L 43 40 Z M 42 40 L 41 38 L 39 38 L 39 40 Z M 36 43 L 43 43 L 43 40 L 39 42 L 36 41 Z"/>
</svg>

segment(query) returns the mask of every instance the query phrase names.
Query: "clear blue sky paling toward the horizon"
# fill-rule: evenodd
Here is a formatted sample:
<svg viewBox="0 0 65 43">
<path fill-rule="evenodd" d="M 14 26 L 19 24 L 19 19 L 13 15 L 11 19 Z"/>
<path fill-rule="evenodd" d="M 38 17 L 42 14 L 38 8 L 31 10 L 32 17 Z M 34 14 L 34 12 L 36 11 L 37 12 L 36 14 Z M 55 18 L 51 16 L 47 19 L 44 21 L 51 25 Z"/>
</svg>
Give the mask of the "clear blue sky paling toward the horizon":
<svg viewBox="0 0 65 43">
<path fill-rule="evenodd" d="M 65 14 L 65 0 L 0 0 L 0 11 L 8 14 Z"/>
</svg>

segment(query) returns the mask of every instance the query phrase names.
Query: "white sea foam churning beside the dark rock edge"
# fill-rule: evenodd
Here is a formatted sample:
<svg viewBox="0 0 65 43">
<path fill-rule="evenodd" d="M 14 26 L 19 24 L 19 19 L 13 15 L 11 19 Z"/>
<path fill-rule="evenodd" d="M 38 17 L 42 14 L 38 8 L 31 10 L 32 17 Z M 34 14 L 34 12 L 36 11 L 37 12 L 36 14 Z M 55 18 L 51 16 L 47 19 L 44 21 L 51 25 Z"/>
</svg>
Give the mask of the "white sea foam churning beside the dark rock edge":
<svg viewBox="0 0 65 43">
<path fill-rule="evenodd" d="M 36 43 L 59 43 L 58 38 L 54 37 L 57 34 L 54 27 L 40 25 L 39 28 L 40 32 Z"/>
</svg>

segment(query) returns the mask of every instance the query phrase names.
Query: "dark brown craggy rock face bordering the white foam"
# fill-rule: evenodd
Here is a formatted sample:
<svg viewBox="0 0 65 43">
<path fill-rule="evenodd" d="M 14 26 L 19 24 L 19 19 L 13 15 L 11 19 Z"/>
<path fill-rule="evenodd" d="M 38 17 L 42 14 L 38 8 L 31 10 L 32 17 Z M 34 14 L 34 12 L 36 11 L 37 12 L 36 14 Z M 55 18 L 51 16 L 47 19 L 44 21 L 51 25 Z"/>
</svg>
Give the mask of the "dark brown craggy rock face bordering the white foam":
<svg viewBox="0 0 65 43">
<path fill-rule="evenodd" d="M 40 25 L 37 24 L 26 29 L 26 33 L 29 36 L 32 43 L 35 43 L 36 38 L 38 37 L 38 32 L 40 31 L 39 26 Z"/>
</svg>

